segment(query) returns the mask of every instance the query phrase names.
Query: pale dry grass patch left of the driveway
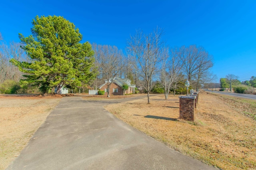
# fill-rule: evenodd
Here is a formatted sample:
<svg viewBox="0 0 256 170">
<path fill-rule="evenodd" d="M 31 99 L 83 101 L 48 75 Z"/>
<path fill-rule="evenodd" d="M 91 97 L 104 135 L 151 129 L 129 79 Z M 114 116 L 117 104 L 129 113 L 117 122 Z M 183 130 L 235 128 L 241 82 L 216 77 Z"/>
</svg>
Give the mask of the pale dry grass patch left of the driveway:
<svg viewBox="0 0 256 170">
<path fill-rule="evenodd" d="M 20 154 L 59 101 L 56 97 L 0 97 L 0 170 Z"/>
</svg>

